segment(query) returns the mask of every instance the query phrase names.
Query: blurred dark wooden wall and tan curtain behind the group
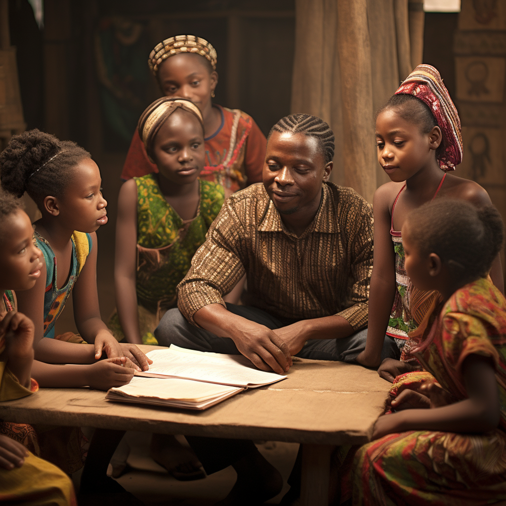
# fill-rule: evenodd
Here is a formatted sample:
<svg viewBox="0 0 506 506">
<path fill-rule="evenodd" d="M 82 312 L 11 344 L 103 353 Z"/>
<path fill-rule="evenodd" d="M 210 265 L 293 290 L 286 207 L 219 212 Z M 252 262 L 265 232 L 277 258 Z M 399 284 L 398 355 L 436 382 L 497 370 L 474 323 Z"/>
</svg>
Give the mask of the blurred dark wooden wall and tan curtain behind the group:
<svg viewBox="0 0 506 506">
<path fill-rule="evenodd" d="M 462 122 L 456 174 L 481 184 L 506 218 L 502 0 L 0 0 L 0 22 L 0 142 L 39 128 L 76 141 L 101 168 L 104 319 L 114 307 L 121 167 L 140 113 L 160 96 L 147 58 L 173 35 L 214 45 L 216 103 L 244 110 L 265 134 L 290 112 L 327 120 L 334 181 L 368 200 L 387 181 L 374 110 L 417 64 L 434 65 Z M 71 314 L 61 319 L 66 330 L 71 323 Z"/>
</svg>

